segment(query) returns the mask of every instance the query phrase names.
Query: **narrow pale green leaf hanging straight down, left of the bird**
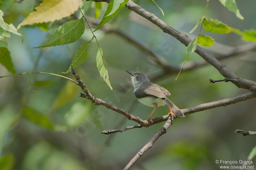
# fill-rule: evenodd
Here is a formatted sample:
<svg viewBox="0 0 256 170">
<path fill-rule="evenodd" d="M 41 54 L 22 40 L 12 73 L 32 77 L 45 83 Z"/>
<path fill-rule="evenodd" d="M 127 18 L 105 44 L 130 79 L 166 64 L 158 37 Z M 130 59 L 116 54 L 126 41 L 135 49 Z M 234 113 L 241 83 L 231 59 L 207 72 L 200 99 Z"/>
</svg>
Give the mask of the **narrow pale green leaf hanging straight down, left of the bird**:
<svg viewBox="0 0 256 170">
<path fill-rule="evenodd" d="M 98 50 L 98 53 L 96 56 L 96 63 L 97 63 L 98 71 L 100 72 L 100 77 L 102 77 L 104 81 L 106 81 L 110 89 L 113 90 L 108 79 L 109 76 L 108 76 L 108 70 L 107 70 L 107 63 L 105 61 L 105 58 L 103 57 L 103 51 L 101 48 L 99 48 Z"/>
</svg>

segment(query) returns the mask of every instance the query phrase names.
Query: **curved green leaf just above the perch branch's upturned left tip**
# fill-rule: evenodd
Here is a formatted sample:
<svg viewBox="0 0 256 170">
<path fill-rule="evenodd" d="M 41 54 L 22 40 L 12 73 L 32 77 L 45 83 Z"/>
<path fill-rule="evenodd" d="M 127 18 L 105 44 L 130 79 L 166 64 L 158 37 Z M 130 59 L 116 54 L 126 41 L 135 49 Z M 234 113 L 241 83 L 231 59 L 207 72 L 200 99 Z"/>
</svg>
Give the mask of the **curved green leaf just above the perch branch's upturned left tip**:
<svg viewBox="0 0 256 170">
<path fill-rule="evenodd" d="M 71 68 L 76 68 L 77 66 L 84 63 L 84 61 L 88 57 L 87 48 L 91 42 L 92 42 L 92 40 L 85 42 L 78 48 L 68 70 L 66 72 L 62 72 L 62 73 L 67 74 L 71 71 Z"/>
</svg>

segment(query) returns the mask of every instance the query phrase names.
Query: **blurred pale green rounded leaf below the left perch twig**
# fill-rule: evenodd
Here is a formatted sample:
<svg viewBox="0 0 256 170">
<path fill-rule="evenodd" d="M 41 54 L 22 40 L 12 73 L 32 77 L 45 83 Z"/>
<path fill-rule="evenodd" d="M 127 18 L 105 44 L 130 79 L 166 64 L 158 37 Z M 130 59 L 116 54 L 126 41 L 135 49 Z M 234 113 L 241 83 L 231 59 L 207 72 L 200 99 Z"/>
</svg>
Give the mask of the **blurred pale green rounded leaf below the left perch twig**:
<svg viewBox="0 0 256 170">
<path fill-rule="evenodd" d="M 92 104 L 90 102 L 75 103 L 65 115 L 68 126 L 76 127 L 84 123 L 90 116 L 91 108 Z"/>
</svg>

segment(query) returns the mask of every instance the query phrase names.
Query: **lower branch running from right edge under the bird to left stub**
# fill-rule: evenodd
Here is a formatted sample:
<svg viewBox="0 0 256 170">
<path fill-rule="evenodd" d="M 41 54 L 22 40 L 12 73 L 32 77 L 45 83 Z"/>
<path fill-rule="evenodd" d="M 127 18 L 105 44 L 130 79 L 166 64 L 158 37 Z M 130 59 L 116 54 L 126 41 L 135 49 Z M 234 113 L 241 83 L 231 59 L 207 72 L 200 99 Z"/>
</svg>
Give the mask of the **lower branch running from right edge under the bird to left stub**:
<svg viewBox="0 0 256 170">
<path fill-rule="evenodd" d="M 248 100 L 248 99 L 252 99 L 252 98 L 255 98 L 255 97 L 256 97 L 256 93 L 254 93 L 254 92 L 247 92 L 245 94 L 241 94 L 241 95 L 238 95 L 236 97 L 231 97 L 231 98 L 228 98 L 228 99 L 212 101 L 212 102 L 204 103 L 204 104 L 197 105 L 197 106 L 194 106 L 194 107 L 189 107 L 189 108 L 186 108 L 186 109 L 181 109 L 181 111 L 182 111 L 182 113 L 184 115 L 189 115 L 189 114 L 192 114 L 192 113 L 201 112 L 201 111 L 212 109 L 212 108 L 215 108 L 215 107 L 221 107 L 221 106 L 227 106 L 227 105 L 235 104 L 237 102 Z M 153 123 L 150 124 L 149 126 L 154 125 L 156 123 L 160 123 L 160 122 L 166 121 L 168 119 L 168 116 L 169 115 L 164 115 L 164 116 L 156 117 L 156 118 L 152 119 Z M 176 119 L 176 118 L 178 118 L 178 117 L 175 117 L 174 119 Z M 143 127 L 143 126 L 141 126 L 141 125 L 134 125 L 134 126 L 125 127 L 123 129 L 104 130 L 101 133 L 108 135 L 108 134 L 111 134 L 111 133 L 123 132 L 125 130 L 130 130 L 130 129 L 134 129 L 134 128 L 141 128 L 141 127 Z"/>
</svg>

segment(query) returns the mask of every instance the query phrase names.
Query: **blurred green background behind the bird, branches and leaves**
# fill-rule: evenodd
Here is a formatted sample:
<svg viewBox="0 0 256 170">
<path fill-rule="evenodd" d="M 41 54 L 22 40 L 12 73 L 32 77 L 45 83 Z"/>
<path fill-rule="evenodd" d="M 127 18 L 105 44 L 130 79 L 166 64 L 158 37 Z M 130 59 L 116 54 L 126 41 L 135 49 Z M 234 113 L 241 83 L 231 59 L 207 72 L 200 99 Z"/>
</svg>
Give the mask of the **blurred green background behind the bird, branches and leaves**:
<svg viewBox="0 0 256 170">
<path fill-rule="evenodd" d="M 4 2 L 7 3 L 1 4 L 4 21 L 13 23 L 16 27 L 41 3 L 35 0 L 26 0 L 23 3 L 13 3 L 11 0 Z M 206 0 L 156 2 L 165 16 L 150 0 L 146 3 L 135 1 L 173 28 L 186 33 L 191 39 L 198 34 L 200 28 L 193 34 L 188 32 L 198 18 L 204 15 Z M 255 29 L 256 2 L 236 2 L 244 20 L 236 18 L 219 1 L 209 2 L 206 17 L 218 19 L 242 31 Z M 107 3 L 101 3 L 101 9 L 98 9 L 101 12 L 100 17 L 93 21 L 95 3 L 83 2 L 83 10 L 92 27 L 100 22 L 106 7 Z M 72 44 L 42 49 L 33 47 L 48 40 L 64 22 L 79 17 L 81 14 L 77 11 L 70 18 L 47 23 L 44 29 L 48 26 L 48 31 L 37 26 L 23 26 L 19 30 L 24 38 L 23 43 L 19 36 L 11 34 L 7 42 L 16 72 L 42 71 L 64 75 L 61 72 L 68 69 L 77 48 L 92 38 L 87 26 L 84 35 Z M 239 76 L 256 80 L 254 44 L 242 41 L 234 33 L 215 34 L 202 30 L 202 34 L 212 36 L 216 41 L 210 48 L 204 48 L 205 50 L 213 56 L 224 57 L 221 63 Z M 175 81 L 177 72 L 167 74 L 154 57 L 138 48 L 138 45 L 127 41 L 124 35 L 148 47 L 164 63 L 172 66 L 180 66 L 187 54 L 187 48 L 125 7 L 107 25 L 95 32 L 95 35 L 108 63 L 113 91 L 100 78 L 96 67 L 98 46 L 95 41 L 88 48 L 88 59 L 76 72 L 95 97 L 141 119 L 147 119 L 152 108 L 135 100 L 130 75 L 125 70 L 145 73 L 154 83 L 168 89 L 172 94 L 169 99 L 179 108 L 193 107 L 247 92 L 230 82 L 210 83 L 210 78 L 223 77 L 209 64 L 183 71 Z M 244 50 L 248 47 L 254 48 Z M 225 57 L 238 49 L 245 52 Z M 203 62 L 203 59 L 193 53 L 186 64 L 193 62 Z M 9 74 L 0 65 L 0 76 Z M 71 73 L 64 76 L 74 79 Z M 1 156 L 5 156 L 1 161 L 8 165 L 5 169 L 123 169 L 164 124 L 161 122 L 148 128 L 132 129 L 108 136 L 100 134 L 102 130 L 120 129 L 136 123 L 103 106 L 96 107 L 90 100 L 79 97 L 80 92 L 81 89 L 74 83 L 51 75 L 28 74 L 0 79 L 0 147 Z M 256 130 L 255 102 L 256 99 L 250 99 L 176 119 L 167 133 L 131 169 L 154 170 L 160 167 L 211 170 L 219 169 L 216 159 L 246 160 L 256 145 L 256 138 L 244 137 L 234 131 Z M 168 112 L 167 106 L 158 107 L 152 118 Z M 253 160 L 256 162 L 255 158 Z"/>
</svg>

